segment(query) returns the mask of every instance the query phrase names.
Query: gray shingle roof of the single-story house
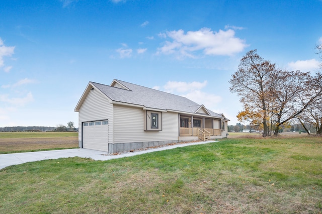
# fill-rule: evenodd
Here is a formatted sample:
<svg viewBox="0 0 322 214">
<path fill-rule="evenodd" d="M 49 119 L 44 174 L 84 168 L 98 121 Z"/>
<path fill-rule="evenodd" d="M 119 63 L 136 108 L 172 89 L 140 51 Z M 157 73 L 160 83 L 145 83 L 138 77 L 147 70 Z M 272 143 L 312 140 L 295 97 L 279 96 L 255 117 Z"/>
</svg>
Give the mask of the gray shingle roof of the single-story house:
<svg viewBox="0 0 322 214">
<path fill-rule="evenodd" d="M 90 82 L 113 101 L 137 104 L 146 108 L 159 110 L 173 110 L 186 113 L 195 113 L 200 108 L 200 104 L 183 96 L 167 93 L 164 91 L 147 88 L 144 86 L 116 80 L 130 90 Z M 225 119 L 222 114 L 208 110 L 211 116 Z"/>
</svg>

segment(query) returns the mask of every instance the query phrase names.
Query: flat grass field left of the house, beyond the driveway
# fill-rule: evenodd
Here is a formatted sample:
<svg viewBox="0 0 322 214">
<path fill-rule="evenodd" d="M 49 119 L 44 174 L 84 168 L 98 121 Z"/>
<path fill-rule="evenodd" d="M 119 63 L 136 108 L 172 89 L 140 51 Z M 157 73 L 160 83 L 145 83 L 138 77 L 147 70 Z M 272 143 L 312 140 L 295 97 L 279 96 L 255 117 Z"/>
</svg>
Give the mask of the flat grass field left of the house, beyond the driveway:
<svg viewBox="0 0 322 214">
<path fill-rule="evenodd" d="M 0 154 L 78 147 L 77 132 L 0 132 Z"/>
</svg>

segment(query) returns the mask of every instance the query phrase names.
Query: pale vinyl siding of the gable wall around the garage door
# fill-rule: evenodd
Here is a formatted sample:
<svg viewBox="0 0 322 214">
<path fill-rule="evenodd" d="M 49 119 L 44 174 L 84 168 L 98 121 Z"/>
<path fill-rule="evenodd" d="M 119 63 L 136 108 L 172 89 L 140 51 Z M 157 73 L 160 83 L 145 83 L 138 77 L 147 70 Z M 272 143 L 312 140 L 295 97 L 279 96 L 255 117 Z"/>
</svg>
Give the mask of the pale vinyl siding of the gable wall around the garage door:
<svg viewBox="0 0 322 214">
<path fill-rule="evenodd" d="M 78 141 L 82 141 L 82 122 L 109 121 L 109 140 L 113 140 L 113 105 L 96 89 L 87 94 L 78 113 Z"/>
</svg>

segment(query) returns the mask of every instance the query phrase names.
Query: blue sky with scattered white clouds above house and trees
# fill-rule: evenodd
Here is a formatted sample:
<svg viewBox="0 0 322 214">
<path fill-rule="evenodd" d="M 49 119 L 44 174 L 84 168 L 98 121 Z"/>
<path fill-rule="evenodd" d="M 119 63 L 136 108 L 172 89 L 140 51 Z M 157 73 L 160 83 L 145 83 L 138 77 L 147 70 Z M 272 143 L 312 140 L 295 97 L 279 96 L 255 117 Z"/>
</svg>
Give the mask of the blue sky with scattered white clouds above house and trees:
<svg viewBox="0 0 322 214">
<path fill-rule="evenodd" d="M 72 121 L 89 81 L 186 96 L 235 125 L 229 79 L 247 51 L 316 71 L 322 1 L 2 0 L 0 127 Z"/>
</svg>

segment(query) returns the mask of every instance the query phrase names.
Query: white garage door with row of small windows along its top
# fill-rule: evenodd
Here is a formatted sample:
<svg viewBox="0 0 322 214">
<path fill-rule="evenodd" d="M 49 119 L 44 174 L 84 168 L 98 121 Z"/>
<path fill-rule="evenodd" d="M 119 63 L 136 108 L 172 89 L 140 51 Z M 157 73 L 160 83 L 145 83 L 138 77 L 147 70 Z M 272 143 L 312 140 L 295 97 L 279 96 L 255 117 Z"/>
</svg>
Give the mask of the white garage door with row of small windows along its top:
<svg viewBox="0 0 322 214">
<path fill-rule="evenodd" d="M 108 121 L 83 123 L 83 148 L 108 152 Z"/>
</svg>

